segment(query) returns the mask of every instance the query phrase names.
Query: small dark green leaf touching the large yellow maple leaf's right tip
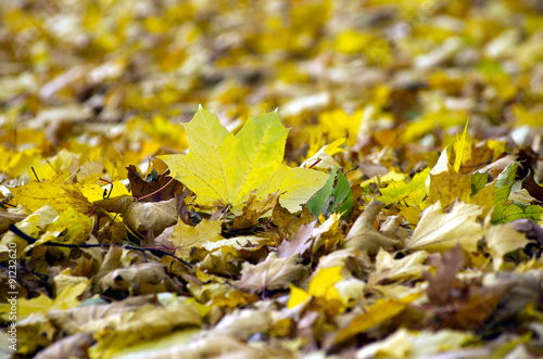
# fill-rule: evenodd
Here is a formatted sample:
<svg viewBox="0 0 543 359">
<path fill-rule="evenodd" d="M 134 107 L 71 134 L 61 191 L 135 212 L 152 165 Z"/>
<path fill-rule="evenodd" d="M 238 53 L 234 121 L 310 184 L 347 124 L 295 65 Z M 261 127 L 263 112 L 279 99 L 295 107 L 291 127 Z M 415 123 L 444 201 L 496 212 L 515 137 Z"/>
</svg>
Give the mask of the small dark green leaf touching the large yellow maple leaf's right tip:
<svg viewBox="0 0 543 359">
<path fill-rule="evenodd" d="M 307 201 L 306 206 L 315 217 L 323 214 L 328 218 L 332 213 L 349 216 L 353 207 L 353 193 L 345 175 L 334 167 L 326 184 Z"/>
</svg>

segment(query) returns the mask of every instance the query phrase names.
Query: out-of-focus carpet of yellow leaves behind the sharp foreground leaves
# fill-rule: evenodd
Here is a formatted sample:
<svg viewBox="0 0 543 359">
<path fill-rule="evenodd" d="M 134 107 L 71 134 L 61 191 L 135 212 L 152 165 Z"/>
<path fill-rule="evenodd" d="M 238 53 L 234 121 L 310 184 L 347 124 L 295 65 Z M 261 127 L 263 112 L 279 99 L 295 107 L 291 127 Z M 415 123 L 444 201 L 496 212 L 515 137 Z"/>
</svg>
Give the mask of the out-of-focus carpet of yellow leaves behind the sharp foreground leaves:
<svg viewBox="0 0 543 359">
<path fill-rule="evenodd" d="M 129 164 L 187 149 L 179 123 L 199 104 L 230 130 L 278 108 L 293 164 L 348 136 L 355 158 L 391 146 L 409 169 L 468 118 L 475 138 L 540 150 L 543 1 L 10 0 L 0 12 L 2 180 L 74 154 L 125 179 Z"/>
</svg>

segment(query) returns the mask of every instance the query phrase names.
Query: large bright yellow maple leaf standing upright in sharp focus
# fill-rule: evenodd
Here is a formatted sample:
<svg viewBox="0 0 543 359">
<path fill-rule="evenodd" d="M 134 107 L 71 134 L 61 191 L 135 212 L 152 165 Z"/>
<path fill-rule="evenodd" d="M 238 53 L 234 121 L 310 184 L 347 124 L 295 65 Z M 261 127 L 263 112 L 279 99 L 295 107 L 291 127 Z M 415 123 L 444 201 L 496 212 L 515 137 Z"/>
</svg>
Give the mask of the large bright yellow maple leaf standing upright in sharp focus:
<svg viewBox="0 0 543 359">
<path fill-rule="evenodd" d="M 250 117 L 236 136 L 203 107 L 184 126 L 189 153 L 159 158 L 201 205 L 239 211 L 251 192 L 262 198 L 278 191 L 279 203 L 296 211 L 326 182 L 323 172 L 281 164 L 288 129 L 276 112 Z"/>
</svg>

